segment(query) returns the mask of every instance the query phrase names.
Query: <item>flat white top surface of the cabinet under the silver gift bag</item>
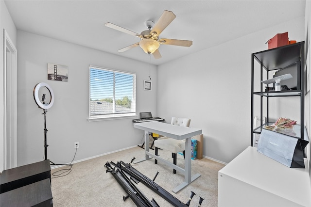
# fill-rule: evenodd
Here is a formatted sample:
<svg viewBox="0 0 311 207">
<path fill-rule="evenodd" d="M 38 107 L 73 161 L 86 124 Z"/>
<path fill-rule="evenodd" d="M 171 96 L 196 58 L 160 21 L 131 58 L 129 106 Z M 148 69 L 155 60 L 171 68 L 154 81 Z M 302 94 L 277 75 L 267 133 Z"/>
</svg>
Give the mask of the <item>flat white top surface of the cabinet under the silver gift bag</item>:
<svg viewBox="0 0 311 207">
<path fill-rule="evenodd" d="M 289 168 L 249 146 L 229 162 L 220 174 L 231 176 L 249 185 L 302 206 L 311 206 L 311 187 L 307 160 L 306 168 Z"/>
</svg>

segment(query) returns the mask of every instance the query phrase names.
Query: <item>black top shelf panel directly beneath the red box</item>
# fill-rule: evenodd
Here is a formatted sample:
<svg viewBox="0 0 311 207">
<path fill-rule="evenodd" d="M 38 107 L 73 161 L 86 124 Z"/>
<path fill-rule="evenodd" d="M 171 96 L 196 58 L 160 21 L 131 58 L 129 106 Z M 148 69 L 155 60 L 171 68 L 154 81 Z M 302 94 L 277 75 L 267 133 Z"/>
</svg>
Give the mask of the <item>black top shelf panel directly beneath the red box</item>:
<svg viewBox="0 0 311 207">
<path fill-rule="evenodd" d="M 300 61 L 301 44 L 299 42 L 278 48 L 268 49 L 261 52 L 253 53 L 256 60 L 263 64 L 263 67 L 270 70 L 277 70 Z"/>
</svg>

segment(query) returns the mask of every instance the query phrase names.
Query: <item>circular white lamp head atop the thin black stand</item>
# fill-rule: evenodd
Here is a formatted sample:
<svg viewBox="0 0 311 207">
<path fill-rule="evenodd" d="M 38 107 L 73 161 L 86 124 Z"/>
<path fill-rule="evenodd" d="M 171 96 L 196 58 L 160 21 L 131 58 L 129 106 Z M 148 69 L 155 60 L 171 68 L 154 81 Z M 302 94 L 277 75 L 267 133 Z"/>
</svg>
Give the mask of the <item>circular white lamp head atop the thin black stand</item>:
<svg viewBox="0 0 311 207">
<path fill-rule="evenodd" d="M 41 97 L 39 97 L 39 90 L 41 87 L 45 87 L 48 89 L 49 93 L 50 93 L 50 102 L 46 103 L 46 94 L 40 94 Z M 52 91 L 52 88 L 44 82 L 38 83 L 35 85 L 34 88 L 34 98 L 35 98 L 35 103 L 38 105 L 39 108 L 43 109 L 43 110 L 47 110 L 50 109 L 54 103 L 54 94 Z"/>
</svg>

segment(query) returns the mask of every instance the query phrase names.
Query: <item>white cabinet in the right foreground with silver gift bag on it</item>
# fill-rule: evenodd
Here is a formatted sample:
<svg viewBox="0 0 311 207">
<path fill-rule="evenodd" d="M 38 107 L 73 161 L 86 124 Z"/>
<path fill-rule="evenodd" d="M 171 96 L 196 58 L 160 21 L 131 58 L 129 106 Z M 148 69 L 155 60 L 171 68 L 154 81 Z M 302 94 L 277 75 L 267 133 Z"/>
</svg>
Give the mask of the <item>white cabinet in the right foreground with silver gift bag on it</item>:
<svg viewBox="0 0 311 207">
<path fill-rule="evenodd" d="M 309 165 L 289 168 L 249 146 L 218 172 L 219 207 L 311 207 Z"/>
</svg>

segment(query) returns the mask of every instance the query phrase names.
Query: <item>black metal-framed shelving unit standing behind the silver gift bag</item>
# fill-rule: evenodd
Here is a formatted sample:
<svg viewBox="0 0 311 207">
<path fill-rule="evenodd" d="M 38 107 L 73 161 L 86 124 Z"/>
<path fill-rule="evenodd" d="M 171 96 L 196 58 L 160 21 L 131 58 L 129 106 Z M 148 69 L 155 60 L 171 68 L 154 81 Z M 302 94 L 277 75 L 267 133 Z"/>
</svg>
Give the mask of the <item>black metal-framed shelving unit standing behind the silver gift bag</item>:
<svg viewBox="0 0 311 207">
<path fill-rule="evenodd" d="M 255 71 L 255 65 L 259 63 L 260 75 L 258 71 Z M 252 85 L 251 85 L 251 146 L 254 146 L 254 134 L 260 134 L 261 130 L 265 126 L 272 125 L 274 122 L 269 120 L 269 99 L 277 97 L 300 97 L 300 125 L 294 126 L 296 136 L 304 139 L 304 97 L 305 97 L 305 85 L 304 85 L 304 42 L 298 42 L 295 44 L 282 46 L 278 48 L 268 49 L 261 52 L 252 54 Z M 256 65 L 257 66 L 257 65 Z M 291 90 L 281 91 L 265 91 L 266 84 L 261 83 L 262 80 L 268 80 L 272 77 L 273 72 L 279 72 L 282 70 L 292 70 L 296 74 L 296 87 Z M 296 70 L 296 71 L 295 71 Z M 254 76 L 255 72 L 257 76 L 260 76 L 260 90 L 254 91 L 255 83 Z M 259 77 L 257 77 L 259 78 Z M 282 82 L 281 82 L 282 83 Z M 258 88 L 258 85 L 256 85 Z M 257 89 L 256 88 L 256 89 Z M 254 96 L 260 96 L 260 126 L 254 127 Z M 263 106 L 263 99 L 265 98 L 265 108 Z M 263 109 L 265 111 L 263 111 Z M 266 117 L 266 122 L 263 123 L 262 117 Z M 289 118 L 289 117 L 288 117 Z M 296 120 L 298 121 L 298 120 Z"/>
</svg>

